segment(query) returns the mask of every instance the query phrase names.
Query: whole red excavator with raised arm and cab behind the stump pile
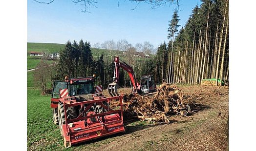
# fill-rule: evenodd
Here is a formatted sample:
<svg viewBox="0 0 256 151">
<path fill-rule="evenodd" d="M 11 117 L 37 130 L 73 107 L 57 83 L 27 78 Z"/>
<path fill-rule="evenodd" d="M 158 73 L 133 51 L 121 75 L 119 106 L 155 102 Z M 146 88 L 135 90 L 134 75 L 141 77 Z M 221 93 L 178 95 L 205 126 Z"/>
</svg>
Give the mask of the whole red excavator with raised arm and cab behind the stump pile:
<svg viewBox="0 0 256 151">
<path fill-rule="evenodd" d="M 153 76 L 142 76 L 140 79 L 140 82 L 137 82 L 134 72 L 131 66 L 129 66 L 126 62 L 119 59 L 119 57 L 115 57 L 115 69 L 114 69 L 114 77 L 113 83 L 110 83 L 108 85 L 108 93 L 111 96 L 119 96 L 117 89 L 120 88 L 118 82 L 119 82 L 119 69 L 120 67 L 123 68 L 125 71 L 128 72 L 128 75 L 130 77 L 131 82 L 131 90 L 132 93 L 137 94 L 149 94 L 156 92 L 156 85 L 154 83 Z"/>
</svg>

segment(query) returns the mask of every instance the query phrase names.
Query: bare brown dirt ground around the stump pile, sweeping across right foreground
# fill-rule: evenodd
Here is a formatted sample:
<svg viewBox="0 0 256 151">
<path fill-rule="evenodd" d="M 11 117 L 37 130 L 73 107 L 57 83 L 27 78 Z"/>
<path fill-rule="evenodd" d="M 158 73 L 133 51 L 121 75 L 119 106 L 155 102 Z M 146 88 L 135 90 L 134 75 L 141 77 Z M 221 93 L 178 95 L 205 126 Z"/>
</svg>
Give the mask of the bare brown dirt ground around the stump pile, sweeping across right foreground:
<svg viewBox="0 0 256 151">
<path fill-rule="evenodd" d="M 228 87 L 187 86 L 182 89 L 185 99 L 195 104 L 200 111 L 190 117 L 171 116 L 169 125 L 139 121 L 135 122 L 136 124 L 126 123 L 125 134 L 93 141 L 85 145 L 83 149 L 102 151 L 225 150 L 226 135 L 221 133 L 223 130 L 220 126 L 226 124 L 228 117 Z M 121 89 L 119 92 L 129 92 L 129 89 Z M 107 92 L 104 94 L 108 95 Z"/>
</svg>

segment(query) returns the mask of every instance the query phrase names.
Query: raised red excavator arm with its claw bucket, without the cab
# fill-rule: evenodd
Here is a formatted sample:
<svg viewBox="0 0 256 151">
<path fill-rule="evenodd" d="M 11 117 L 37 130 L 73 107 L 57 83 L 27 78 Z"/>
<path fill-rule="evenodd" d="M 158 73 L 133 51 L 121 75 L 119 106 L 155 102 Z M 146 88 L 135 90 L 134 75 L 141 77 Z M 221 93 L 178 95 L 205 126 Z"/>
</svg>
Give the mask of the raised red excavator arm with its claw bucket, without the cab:
<svg viewBox="0 0 256 151">
<path fill-rule="evenodd" d="M 131 81 L 131 84 L 132 84 L 132 87 L 133 87 L 132 92 L 133 93 L 138 92 L 138 85 L 137 85 L 136 78 L 134 76 L 134 72 L 133 72 L 132 67 L 129 66 L 124 61 L 120 62 L 119 57 L 115 57 L 115 70 L 114 70 L 114 77 L 113 77 L 114 82 L 110 83 L 108 85 L 108 88 L 107 88 L 108 93 L 111 96 L 118 96 L 119 95 L 118 92 L 117 92 L 117 89 L 120 87 L 119 84 L 118 84 L 120 67 L 128 72 L 128 75 L 130 77 L 130 81 Z"/>
</svg>

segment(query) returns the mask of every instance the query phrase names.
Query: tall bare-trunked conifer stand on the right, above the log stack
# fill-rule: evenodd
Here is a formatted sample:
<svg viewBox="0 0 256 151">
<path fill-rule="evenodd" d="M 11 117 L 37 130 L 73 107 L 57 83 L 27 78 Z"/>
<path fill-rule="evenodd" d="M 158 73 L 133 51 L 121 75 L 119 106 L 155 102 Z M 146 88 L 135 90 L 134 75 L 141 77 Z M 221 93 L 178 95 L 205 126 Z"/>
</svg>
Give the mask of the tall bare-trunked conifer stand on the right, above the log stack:
<svg viewBox="0 0 256 151">
<path fill-rule="evenodd" d="M 229 1 L 201 0 L 186 25 L 180 26 L 177 11 L 169 24 L 168 43 L 155 57 L 155 78 L 178 84 L 200 84 L 204 78 L 229 79 Z"/>
</svg>

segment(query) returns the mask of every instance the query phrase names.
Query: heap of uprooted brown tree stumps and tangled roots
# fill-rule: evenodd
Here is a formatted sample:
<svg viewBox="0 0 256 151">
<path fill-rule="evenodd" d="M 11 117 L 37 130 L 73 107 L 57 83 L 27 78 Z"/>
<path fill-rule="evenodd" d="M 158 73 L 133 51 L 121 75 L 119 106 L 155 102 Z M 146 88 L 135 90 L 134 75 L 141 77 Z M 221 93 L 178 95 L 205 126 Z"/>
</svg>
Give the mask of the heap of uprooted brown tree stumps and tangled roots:
<svg viewBox="0 0 256 151">
<path fill-rule="evenodd" d="M 170 123 L 167 116 L 182 114 L 187 116 L 191 110 L 183 100 L 182 90 L 175 85 L 162 84 L 153 96 L 130 94 L 124 96 L 124 118 L 163 121 Z"/>
</svg>

